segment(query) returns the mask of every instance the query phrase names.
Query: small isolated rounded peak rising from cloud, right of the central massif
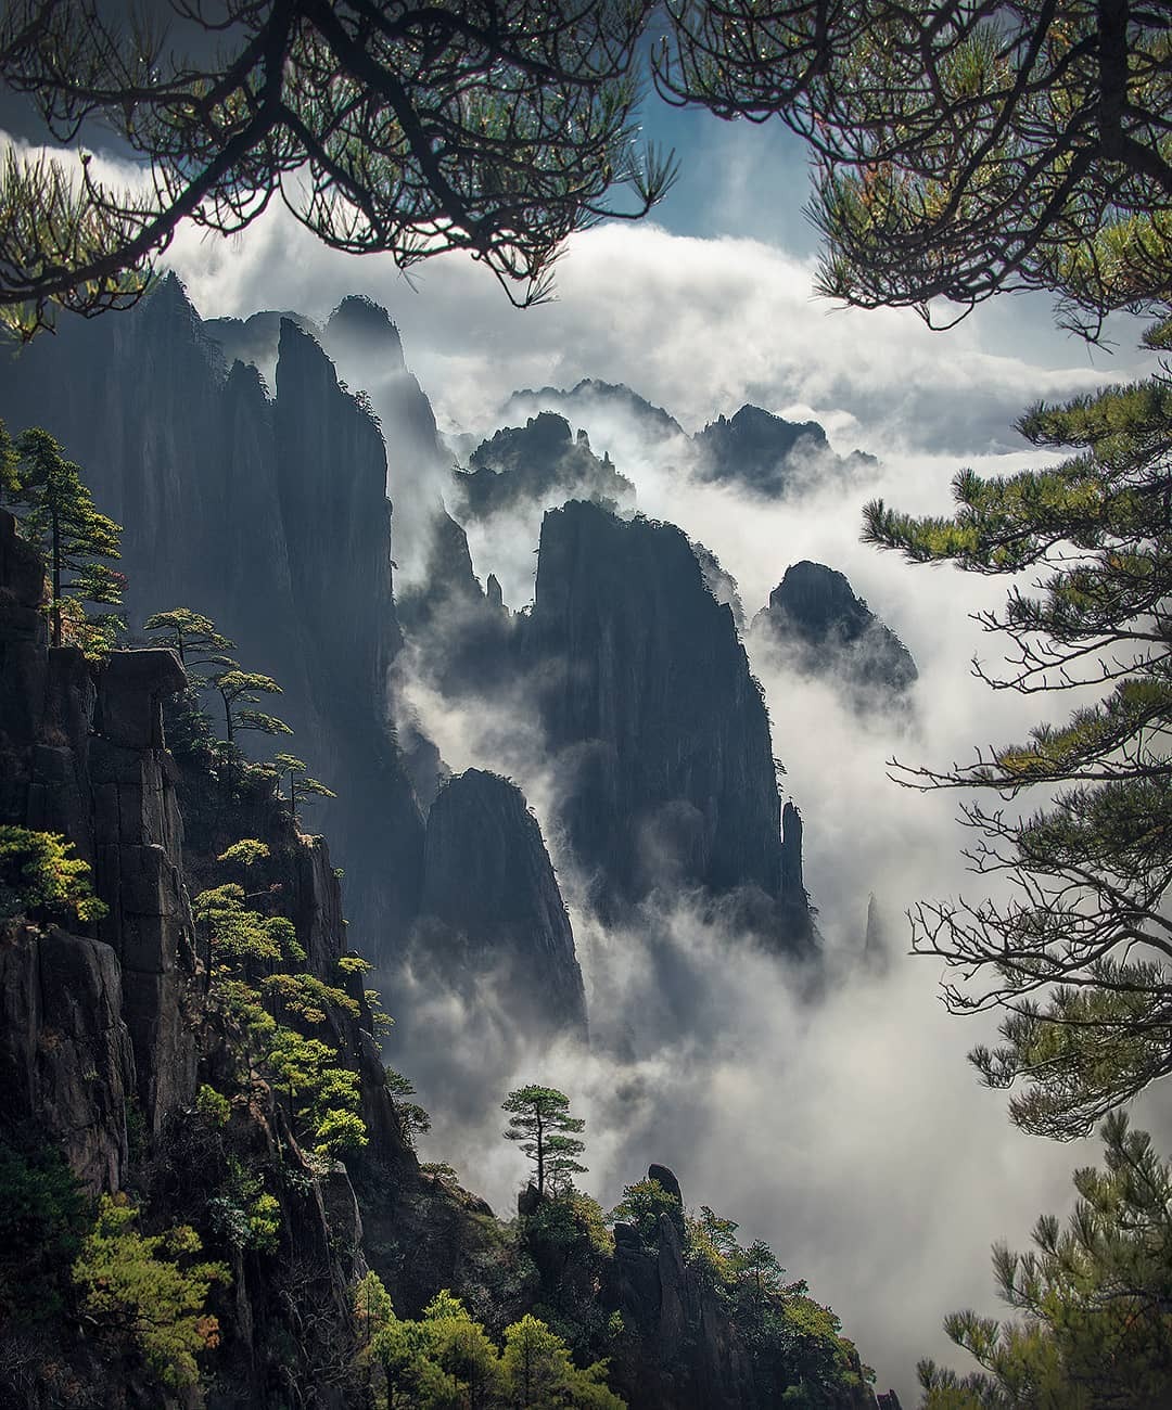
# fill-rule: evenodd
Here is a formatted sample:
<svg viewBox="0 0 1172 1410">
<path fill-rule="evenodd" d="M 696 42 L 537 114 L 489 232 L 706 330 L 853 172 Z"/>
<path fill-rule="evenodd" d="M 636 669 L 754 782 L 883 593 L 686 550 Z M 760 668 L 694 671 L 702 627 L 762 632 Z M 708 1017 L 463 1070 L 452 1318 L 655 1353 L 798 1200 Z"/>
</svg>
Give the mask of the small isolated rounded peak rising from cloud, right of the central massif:
<svg viewBox="0 0 1172 1410">
<path fill-rule="evenodd" d="M 795 563 L 753 619 L 753 634 L 807 675 L 838 677 L 856 705 L 893 702 L 917 680 L 915 661 L 843 574 Z"/>
</svg>

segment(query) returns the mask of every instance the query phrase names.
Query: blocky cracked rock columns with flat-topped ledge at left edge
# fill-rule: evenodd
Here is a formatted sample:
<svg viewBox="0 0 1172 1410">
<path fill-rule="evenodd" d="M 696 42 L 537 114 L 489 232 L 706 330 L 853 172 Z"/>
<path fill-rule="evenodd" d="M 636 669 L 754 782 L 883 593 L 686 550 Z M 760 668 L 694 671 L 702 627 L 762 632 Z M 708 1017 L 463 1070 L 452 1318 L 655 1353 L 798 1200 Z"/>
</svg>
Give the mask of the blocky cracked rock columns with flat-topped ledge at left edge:
<svg viewBox="0 0 1172 1410">
<path fill-rule="evenodd" d="M 39 560 L 0 510 L 0 822 L 71 840 L 106 905 L 96 939 L 61 928 L 6 936 L 3 966 L 21 995 L 6 1012 L 6 1065 L 11 1093 L 51 1112 L 85 1179 L 111 1187 L 126 1100 L 158 1131 L 195 1091 L 188 1019 L 203 964 L 162 739 L 162 702 L 186 677 L 166 650 L 94 667 L 75 647 L 48 649 L 41 594 Z"/>
</svg>

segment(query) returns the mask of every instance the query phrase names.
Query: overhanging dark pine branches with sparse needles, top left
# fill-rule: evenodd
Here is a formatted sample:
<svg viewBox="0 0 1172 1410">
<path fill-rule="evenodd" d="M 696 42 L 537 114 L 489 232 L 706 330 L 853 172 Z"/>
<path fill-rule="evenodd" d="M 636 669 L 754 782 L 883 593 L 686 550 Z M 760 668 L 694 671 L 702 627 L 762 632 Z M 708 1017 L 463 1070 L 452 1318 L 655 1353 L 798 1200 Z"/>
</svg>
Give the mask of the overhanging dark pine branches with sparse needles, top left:
<svg viewBox="0 0 1172 1410">
<path fill-rule="evenodd" d="M 149 180 L 116 190 L 89 161 L 73 180 L 10 149 L 0 309 L 31 336 L 56 306 L 126 307 L 181 221 L 230 234 L 274 197 L 337 250 L 401 268 L 467 250 L 535 302 L 571 231 L 642 216 L 669 185 L 633 145 L 647 10 L 176 0 L 164 27 L 128 4 L 116 23 L 87 0 L 14 0 L 0 83 L 52 141 L 111 130 Z"/>
</svg>

